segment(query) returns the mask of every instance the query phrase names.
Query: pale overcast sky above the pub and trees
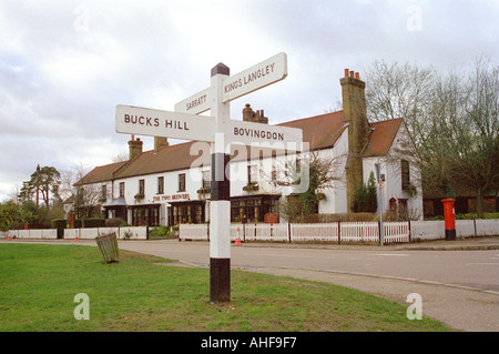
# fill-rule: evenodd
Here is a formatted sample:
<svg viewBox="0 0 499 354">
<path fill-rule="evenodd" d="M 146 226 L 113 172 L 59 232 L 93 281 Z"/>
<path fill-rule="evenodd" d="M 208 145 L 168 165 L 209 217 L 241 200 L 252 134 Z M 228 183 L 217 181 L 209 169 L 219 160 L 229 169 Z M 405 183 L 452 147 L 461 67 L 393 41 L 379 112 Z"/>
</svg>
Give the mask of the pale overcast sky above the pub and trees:
<svg viewBox="0 0 499 354">
<path fill-rule="evenodd" d="M 498 19 L 497 0 L 0 0 L 0 202 L 37 164 L 126 155 L 115 105 L 172 111 L 218 62 L 234 74 L 287 53 L 285 80 L 231 102 L 232 119 L 251 103 L 275 124 L 335 108 L 345 68 L 497 60 Z"/>
</svg>

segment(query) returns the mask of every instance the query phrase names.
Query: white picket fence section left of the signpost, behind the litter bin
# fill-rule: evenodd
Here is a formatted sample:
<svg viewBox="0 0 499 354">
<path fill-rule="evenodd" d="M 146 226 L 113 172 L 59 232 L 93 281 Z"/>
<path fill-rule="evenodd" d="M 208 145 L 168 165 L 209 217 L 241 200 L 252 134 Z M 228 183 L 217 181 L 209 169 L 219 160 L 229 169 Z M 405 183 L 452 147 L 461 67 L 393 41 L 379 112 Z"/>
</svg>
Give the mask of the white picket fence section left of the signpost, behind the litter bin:
<svg viewBox="0 0 499 354">
<path fill-rule="evenodd" d="M 118 239 L 146 240 L 147 227 L 144 226 L 124 226 L 124 227 L 89 227 L 89 229 L 64 229 L 65 240 L 93 240 L 98 235 L 116 233 Z M 40 230 L 9 230 L 0 233 L 0 237 L 11 239 L 35 239 L 35 240 L 57 240 L 57 229 Z"/>
</svg>

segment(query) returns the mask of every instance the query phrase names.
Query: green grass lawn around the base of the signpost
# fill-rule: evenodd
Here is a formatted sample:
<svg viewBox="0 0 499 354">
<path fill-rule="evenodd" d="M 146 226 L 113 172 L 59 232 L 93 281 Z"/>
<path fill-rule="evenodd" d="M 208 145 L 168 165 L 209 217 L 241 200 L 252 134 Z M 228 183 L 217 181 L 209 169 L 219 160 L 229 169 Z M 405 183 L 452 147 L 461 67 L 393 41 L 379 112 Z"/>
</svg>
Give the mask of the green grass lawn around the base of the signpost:
<svg viewBox="0 0 499 354">
<path fill-rule="evenodd" d="M 406 307 L 319 282 L 232 271 L 232 301 L 208 301 L 210 271 L 98 247 L 0 244 L 0 331 L 447 331 Z M 157 264 L 163 263 L 163 264 Z M 90 320 L 77 321 L 85 293 Z"/>
</svg>

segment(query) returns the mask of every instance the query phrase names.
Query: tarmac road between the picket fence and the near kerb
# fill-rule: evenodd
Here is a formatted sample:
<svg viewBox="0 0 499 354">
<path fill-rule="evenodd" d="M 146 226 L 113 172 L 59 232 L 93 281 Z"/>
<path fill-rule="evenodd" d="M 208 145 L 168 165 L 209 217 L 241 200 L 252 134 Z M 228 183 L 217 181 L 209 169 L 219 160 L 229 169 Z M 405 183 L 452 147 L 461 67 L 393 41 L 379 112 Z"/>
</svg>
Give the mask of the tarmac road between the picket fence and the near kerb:
<svg viewBox="0 0 499 354">
<path fill-rule="evenodd" d="M 128 241 L 121 249 L 207 266 L 206 242 Z M 387 251 L 376 247 L 310 247 L 245 244 L 232 246 L 231 265 L 243 270 L 289 269 L 442 283 L 499 294 L 499 250 Z"/>
</svg>

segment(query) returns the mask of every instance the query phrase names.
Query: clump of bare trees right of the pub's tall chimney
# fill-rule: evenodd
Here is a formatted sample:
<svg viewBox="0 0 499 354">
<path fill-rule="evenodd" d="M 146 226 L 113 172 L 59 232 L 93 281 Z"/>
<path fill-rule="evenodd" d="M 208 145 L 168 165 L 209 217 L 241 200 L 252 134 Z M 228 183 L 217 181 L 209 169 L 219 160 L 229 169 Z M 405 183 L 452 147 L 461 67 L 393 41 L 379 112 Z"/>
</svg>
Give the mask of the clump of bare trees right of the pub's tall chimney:
<svg viewBox="0 0 499 354">
<path fill-rule="evenodd" d="M 371 120 L 401 117 L 416 150 L 400 150 L 421 171 L 426 190 L 455 196 L 473 189 L 477 213 L 485 193 L 499 185 L 499 65 L 478 59 L 469 74 L 375 62 L 367 71 Z"/>
</svg>

